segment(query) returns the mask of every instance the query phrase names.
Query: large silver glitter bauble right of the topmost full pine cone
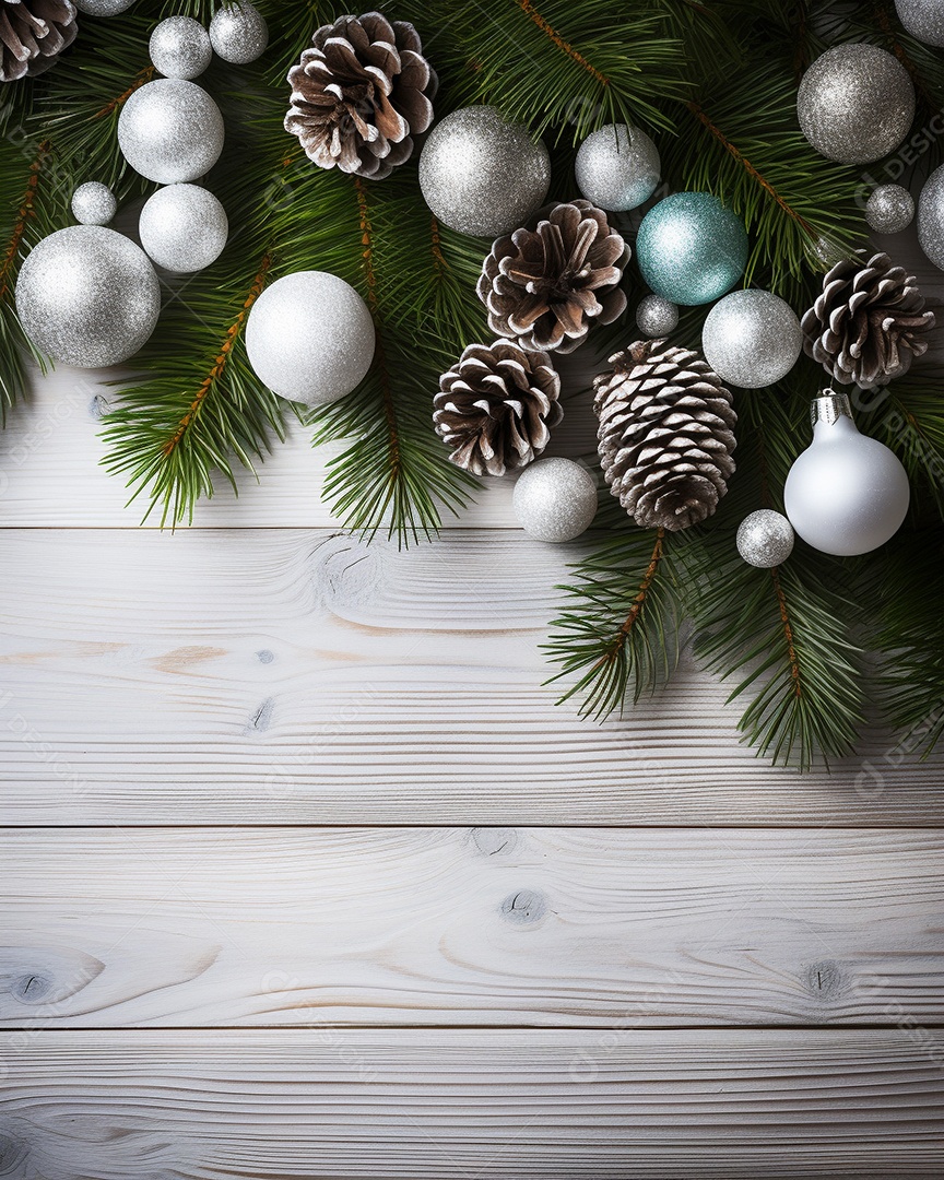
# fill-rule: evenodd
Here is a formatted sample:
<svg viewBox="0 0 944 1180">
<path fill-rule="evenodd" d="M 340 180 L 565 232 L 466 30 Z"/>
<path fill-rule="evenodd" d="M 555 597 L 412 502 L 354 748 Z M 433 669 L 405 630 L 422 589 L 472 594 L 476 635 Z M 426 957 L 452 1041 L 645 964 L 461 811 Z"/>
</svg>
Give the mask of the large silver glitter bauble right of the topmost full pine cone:
<svg viewBox="0 0 944 1180">
<path fill-rule="evenodd" d="M 493 106 L 466 106 L 438 123 L 420 156 L 426 204 L 451 229 L 498 237 L 523 225 L 548 196 L 548 149 Z"/>
</svg>

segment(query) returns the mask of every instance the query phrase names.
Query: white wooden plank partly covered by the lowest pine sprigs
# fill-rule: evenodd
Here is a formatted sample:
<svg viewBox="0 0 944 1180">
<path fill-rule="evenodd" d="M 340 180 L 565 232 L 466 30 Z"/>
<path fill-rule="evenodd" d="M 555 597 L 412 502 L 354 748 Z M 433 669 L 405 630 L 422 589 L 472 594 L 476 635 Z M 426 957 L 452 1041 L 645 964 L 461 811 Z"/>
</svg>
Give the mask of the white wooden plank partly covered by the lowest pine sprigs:
<svg viewBox="0 0 944 1180">
<path fill-rule="evenodd" d="M 539 651 L 579 548 L 454 532 L 0 532 L 7 824 L 940 824 L 944 752 L 738 745 L 689 662 L 603 727 Z"/>
</svg>

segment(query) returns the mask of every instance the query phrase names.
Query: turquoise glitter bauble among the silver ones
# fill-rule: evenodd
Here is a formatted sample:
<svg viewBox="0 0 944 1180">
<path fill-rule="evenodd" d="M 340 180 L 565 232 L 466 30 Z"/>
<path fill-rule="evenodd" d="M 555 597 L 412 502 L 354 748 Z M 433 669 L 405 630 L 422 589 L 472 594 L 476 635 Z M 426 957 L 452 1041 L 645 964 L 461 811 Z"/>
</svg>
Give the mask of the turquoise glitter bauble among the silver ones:
<svg viewBox="0 0 944 1180">
<path fill-rule="evenodd" d="M 747 231 L 710 192 L 676 192 L 643 217 L 636 258 L 656 295 L 684 307 L 710 303 L 745 273 Z"/>
</svg>

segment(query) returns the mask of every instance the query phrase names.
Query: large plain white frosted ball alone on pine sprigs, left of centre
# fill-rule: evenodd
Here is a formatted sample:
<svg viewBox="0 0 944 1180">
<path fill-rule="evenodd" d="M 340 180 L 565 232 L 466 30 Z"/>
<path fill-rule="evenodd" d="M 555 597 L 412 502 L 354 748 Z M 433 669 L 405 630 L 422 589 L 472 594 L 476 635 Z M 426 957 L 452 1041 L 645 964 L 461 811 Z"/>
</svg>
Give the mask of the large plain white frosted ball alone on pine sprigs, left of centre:
<svg viewBox="0 0 944 1180">
<path fill-rule="evenodd" d="M 374 322 L 343 278 L 286 275 L 256 300 L 245 326 L 256 376 L 289 401 L 323 406 L 360 385 L 374 356 Z"/>
</svg>

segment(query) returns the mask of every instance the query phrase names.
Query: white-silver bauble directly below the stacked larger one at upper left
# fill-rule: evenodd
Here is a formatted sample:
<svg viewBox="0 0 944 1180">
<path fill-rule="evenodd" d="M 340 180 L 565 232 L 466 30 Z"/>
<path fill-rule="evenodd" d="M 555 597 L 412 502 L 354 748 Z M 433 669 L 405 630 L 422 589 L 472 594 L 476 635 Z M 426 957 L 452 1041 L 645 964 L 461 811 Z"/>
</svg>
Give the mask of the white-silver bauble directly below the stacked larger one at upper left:
<svg viewBox="0 0 944 1180">
<path fill-rule="evenodd" d="M 140 211 L 140 244 L 165 270 L 190 274 L 216 262 L 229 237 L 227 211 L 196 184 L 158 189 Z"/>
</svg>

